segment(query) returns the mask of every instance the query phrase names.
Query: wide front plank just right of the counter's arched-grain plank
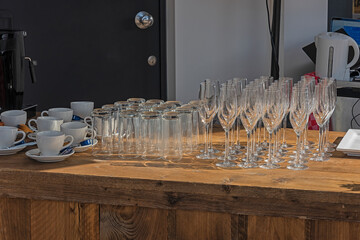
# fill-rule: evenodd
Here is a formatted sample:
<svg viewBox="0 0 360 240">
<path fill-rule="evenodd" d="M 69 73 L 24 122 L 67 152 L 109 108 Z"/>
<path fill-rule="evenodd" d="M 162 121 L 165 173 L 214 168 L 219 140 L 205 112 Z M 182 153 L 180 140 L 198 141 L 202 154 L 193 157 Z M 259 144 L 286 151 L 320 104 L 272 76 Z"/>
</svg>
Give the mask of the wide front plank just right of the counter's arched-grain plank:
<svg viewBox="0 0 360 240">
<path fill-rule="evenodd" d="M 201 211 L 176 211 L 176 239 L 231 239 L 231 215 Z"/>
</svg>

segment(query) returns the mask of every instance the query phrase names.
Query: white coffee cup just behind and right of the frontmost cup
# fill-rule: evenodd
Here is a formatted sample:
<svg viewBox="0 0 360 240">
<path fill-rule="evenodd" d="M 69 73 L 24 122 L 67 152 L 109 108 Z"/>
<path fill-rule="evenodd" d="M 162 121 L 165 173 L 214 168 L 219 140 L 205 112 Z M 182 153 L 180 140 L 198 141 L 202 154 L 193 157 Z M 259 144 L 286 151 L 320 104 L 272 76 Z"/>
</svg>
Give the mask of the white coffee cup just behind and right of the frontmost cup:
<svg viewBox="0 0 360 240">
<path fill-rule="evenodd" d="M 85 140 L 87 134 L 92 134 L 92 130 L 89 129 L 88 125 L 83 122 L 69 122 L 63 123 L 60 129 L 66 135 L 74 137 L 74 144 L 78 144 Z M 91 136 L 92 137 L 92 136 Z"/>
</svg>

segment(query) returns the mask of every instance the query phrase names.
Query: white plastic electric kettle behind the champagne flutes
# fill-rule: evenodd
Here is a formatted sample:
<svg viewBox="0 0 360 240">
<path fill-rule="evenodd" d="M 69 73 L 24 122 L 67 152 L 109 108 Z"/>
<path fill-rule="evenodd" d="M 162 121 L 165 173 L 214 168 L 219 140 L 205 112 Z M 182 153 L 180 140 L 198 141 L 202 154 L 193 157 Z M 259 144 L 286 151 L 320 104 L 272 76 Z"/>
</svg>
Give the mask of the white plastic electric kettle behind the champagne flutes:
<svg viewBox="0 0 360 240">
<path fill-rule="evenodd" d="M 336 32 L 321 33 L 315 37 L 316 67 L 319 77 L 350 81 L 350 67 L 359 59 L 359 46 L 351 37 Z M 349 46 L 354 58 L 348 63 Z"/>
</svg>

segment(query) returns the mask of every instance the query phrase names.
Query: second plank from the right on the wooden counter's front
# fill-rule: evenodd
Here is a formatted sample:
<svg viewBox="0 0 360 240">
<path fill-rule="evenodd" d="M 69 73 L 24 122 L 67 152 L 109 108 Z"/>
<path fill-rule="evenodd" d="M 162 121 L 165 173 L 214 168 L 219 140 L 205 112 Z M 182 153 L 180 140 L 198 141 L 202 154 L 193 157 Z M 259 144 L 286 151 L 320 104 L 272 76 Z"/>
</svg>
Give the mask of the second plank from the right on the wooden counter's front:
<svg viewBox="0 0 360 240">
<path fill-rule="evenodd" d="M 248 239 L 305 240 L 305 220 L 248 216 Z"/>
</svg>

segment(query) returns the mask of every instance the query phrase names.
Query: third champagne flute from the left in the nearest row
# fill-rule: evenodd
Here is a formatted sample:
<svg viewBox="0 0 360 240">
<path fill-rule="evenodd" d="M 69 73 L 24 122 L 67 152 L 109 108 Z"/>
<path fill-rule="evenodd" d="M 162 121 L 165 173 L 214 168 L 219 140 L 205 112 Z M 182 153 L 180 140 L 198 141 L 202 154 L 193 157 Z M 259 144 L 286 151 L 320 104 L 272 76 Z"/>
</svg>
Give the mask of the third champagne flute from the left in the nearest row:
<svg viewBox="0 0 360 240">
<path fill-rule="evenodd" d="M 264 126 L 266 130 L 269 132 L 269 158 L 265 161 L 266 164 L 261 165 L 261 168 L 265 169 L 275 169 L 279 168 L 280 165 L 275 164 L 273 162 L 273 153 L 272 150 L 274 149 L 272 147 L 272 144 L 275 144 L 273 142 L 273 132 L 275 128 L 278 125 L 278 119 L 281 118 L 282 114 L 282 105 L 281 105 L 282 95 L 280 94 L 280 90 L 273 88 L 273 89 L 266 89 L 264 92 L 263 97 L 263 114 L 262 114 L 262 120 L 264 123 Z"/>
</svg>

